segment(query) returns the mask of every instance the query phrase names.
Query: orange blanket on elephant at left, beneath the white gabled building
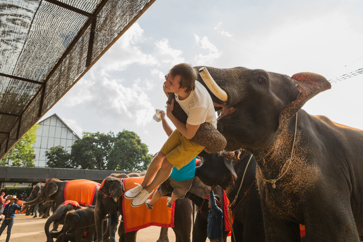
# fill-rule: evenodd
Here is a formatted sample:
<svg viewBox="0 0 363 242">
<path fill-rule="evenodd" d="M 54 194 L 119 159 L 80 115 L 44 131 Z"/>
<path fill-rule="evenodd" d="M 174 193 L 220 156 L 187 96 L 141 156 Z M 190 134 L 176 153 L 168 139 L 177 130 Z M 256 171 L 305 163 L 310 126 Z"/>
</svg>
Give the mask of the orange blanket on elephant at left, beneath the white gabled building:
<svg viewBox="0 0 363 242">
<path fill-rule="evenodd" d="M 92 204 L 99 183 L 80 179 L 68 181 L 64 188 L 64 200 L 77 201 L 79 204 Z"/>
</svg>

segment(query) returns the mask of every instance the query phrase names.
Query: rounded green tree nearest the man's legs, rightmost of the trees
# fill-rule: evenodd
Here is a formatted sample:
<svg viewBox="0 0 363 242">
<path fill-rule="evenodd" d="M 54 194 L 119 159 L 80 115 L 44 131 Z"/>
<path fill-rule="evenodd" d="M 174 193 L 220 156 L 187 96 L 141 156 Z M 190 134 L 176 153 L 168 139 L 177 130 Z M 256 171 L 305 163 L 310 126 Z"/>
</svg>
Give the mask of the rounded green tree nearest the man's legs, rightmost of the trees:
<svg viewBox="0 0 363 242">
<path fill-rule="evenodd" d="M 123 130 L 116 136 L 107 169 L 142 172 L 146 171 L 151 159 L 152 155 L 148 154 L 148 147 L 140 137 L 135 132 Z"/>
</svg>

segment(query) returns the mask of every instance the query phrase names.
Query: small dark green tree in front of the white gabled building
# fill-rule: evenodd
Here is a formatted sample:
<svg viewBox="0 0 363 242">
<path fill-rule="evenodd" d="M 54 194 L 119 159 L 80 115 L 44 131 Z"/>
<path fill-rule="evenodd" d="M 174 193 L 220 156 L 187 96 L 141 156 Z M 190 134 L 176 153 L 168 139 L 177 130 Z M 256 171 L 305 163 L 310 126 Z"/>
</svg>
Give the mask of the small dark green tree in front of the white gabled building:
<svg viewBox="0 0 363 242">
<path fill-rule="evenodd" d="M 70 161 L 70 153 L 64 150 L 61 145 L 52 147 L 45 151 L 47 159 L 46 166 L 50 168 L 73 168 Z"/>
</svg>

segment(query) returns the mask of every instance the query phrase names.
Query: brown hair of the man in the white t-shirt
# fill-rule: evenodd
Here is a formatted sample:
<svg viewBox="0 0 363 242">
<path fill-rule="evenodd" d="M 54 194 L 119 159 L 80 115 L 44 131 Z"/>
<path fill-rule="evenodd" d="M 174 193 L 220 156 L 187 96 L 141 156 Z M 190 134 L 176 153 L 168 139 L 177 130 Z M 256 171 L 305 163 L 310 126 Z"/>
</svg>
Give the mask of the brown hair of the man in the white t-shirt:
<svg viewBox="0 0 363 242">
<path fill-rule="evenodd" d="M 180 88 L 185 87 L 186 93 L 195 89 L 197 71 L 191 65 L 187 63 L 180 63 L 173 66 L 168 73 L 168 77 L 174 79 L 177 75 L 180 76 Z"/>
</svg>

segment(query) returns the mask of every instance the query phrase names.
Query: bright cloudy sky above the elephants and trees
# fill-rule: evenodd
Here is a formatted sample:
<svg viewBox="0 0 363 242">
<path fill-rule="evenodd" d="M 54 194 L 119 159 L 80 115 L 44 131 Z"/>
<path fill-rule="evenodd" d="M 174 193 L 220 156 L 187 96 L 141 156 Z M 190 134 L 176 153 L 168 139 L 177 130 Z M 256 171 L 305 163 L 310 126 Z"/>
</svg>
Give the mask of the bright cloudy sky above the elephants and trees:
<svg viewBox="0 0 363 242">
<path fill-rule="evenodd" d="M 152 116 L 165 110 L 173 65 L 335 79 L 363 68 L 362 9 L 362 0 L 156 0 L 41 119 L 56 113 L 79 136 L 134 131 L 156 153 L 167 135 Z M 362 87 L 363 74 L 332 83 L 303 109 L 363 129 Z"/>
</svg>

